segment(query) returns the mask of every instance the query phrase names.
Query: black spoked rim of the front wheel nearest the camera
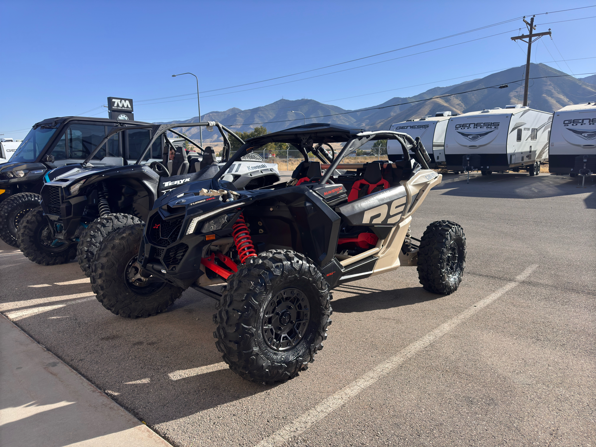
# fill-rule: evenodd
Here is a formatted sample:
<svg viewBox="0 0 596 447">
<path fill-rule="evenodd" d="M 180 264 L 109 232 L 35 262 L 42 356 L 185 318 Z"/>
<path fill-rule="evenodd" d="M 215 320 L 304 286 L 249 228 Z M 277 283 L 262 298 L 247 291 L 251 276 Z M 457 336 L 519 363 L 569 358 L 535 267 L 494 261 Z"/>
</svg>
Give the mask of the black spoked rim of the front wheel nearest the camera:
<svg viewBox="0 0 596 447">
<path fill-rule="evenodd" d="M 284 288 L 272 296 L 263 312 L 265 343 L 278 352 L 292 349 L 302 340 L 311 321 L 306 294 L 296 287 Z"/>
</svg>

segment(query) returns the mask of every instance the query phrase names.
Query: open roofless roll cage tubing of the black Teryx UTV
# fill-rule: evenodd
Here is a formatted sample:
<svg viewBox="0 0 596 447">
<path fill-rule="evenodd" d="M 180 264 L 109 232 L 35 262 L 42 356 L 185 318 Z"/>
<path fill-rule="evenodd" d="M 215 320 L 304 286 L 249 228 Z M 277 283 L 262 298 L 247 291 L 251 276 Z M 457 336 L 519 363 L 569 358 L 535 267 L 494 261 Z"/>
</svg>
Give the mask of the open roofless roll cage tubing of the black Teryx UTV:
<svg viewBox="0 0 596 447">
<path fill-rule="evenodd" d="M 184 139 L 185 141 L 190 142 L 192 145 L 197 147 L 198 150 L 201 151 L 201 153 L 203 153 L 204 148 L 201 147 L 201 145 L 197 144 L 196 142 L 194 142 L 193 140 L 188 138 L 188 136 L 181 134 L 178 131 L 173 130 L 175 128 L 190 128 L 190 127 L 197 127 L 197 126 L 204 126 L 207 128 L 207 130 L 209 130 L 209 128 L 211 128 L 211 130 L 213 130 L 214 127 L 218 128 L 219 133 L 221 134 L 222 138 L 224 139 L 224 153 L 225 153 L 226 159 L 228 158 L 228 155 L 231 150 L 231 144 L 229 142 L 228 137 L 226 136 L 226 132 L 229 135 L 234 136 L 234 138 L 237 139 L 238 141 L 240 141 L 240 144 L 244 144 L 244 141 L 238 135 L 234 134 L 234 132 L 232 132 L 231 130 L 229 130 L 228 128 L 226 128 L 225 126 L 221 125 L 220 123 L 218 123 L 216 121 L 208 121 L 205 123 L 177 123 L 177 124 L 162 124 L 162 125 L 126 126 L 126 127 L 122 127 L 122 128 L 114 128 L 110 132 L 108 132 L 108 134 L 105 135 L 104 139 L 102 139 L 100 141 L 100 143 L 95 147 L 95 149 L 92 150 L 91 153 L 87 156 L 85 161 L 82 163 L 82 166 L 83 167 L 89 166 L 89 162 L 91 161 L 91 159 L 95 156 L 95 154 L 97 154 L 97 152 L 101 149 L 101 147 L 103 147 L 103 145 L 108 141 L 108 139 L 110 139 L 110 137 L 112 135 L 117 134 L 118 132 L 130 131 L 130 130 L 136 130 L 136 129 L 150 129 L 152 136 L 151 136 L 151 139 L 148 142 L 147 146 L 142 151 L 141 155 L 139 156 L 139 158 L 136 160 L 136 162 L 134 164 L 142 163 L 142 160 L 145 158 L 145 155 L 147 155 L 147 151 L 149 150 L 149 148 L 153 145 L 154 142 L 157 141 L 157 138 L 159 138 L 162 134 L 164 134 L 164 138 L 166 139 L 166 145 L 173 147 L 172 143 L 167 138 L 167 135 L 165 135 L 167 132 L 172 132 L 172 134 L 177 135 L 180 138 Z"/>
</svg>

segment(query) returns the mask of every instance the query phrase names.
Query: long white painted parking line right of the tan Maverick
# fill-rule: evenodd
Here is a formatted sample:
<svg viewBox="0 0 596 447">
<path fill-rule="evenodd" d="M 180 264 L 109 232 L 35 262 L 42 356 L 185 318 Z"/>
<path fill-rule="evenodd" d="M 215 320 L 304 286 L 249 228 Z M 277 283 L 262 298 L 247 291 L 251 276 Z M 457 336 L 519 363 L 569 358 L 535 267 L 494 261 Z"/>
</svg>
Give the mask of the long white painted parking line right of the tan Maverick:
<svg viewBox="0 0 596 447">
<path fill-rule="evenodd" d="M 493 301 L 501 297 L 502 294 L 516 287 L 516 285 L 520 284 L 520 282 L 529 277 L 529 275 L 536 267 L 538 267 L 537 264 L 530 265 L 527 269 L 523 271 L 521 275 L 516 277 L 514 281 L 511 281 L 511 283 L 505 284 L 503 287 L 499 288 L 499 290 L 495 291 L 495 293 L 492 293 L 485 299 L 480 300 L 473 306 L 470 306 L 469 308 L 465 309 L 465 311 L 460 313 L 460 315 L 457 315 L 455 316 L 455 318 L 452 318 L 449 321 L 443 323 L 439 327 L 430 331 L 428 334 L 426 334 L 426 336 L 422 337 L 420 340 L 417 340 L 416 342 L 405 347 L 405 349 L 402 349 L 401 352 L 399 352 L 397 355 L 390 357 L 380 365 L 377 365 L 375 368 L 373 368 L 373 370 L 364 374 L 358 380 L 353 381 L 349 385 L 345 386 L 343 389 L 336 392 L 334 395 L 330 396 L 329 398 L 316 405 L 315 408 L 307 411 L 305 414 L 296 418 L 296 420 L 294 420 L 290 424 L 281 427 L 280 430 L 277 430 L 277 432 L 271 434 L 271 436 L 268 436 L 265 439 L 263 439 L 256 445 L 256 447 L 274 447 L 282 445 L 288 442 L 288 440 L 290 440 L 291 437 L 297 436 L 300 433 L 305 432 L 305 430 L 308 430 L 309 427 L 311 427 L 313 424 L 322 420 L 322 418 L 324 418 L 340 406 L 344 405 L 344 403 L 350 401 L 350 399 L 352 399 L 354 396 L 358 395 L 360 392 L 370 387 L 384 375 L 389 374 L 392 370 L 401 365 L 403 362 L 413 357 L 421 350 L 425 349 L 427 346 L 438 340 L 440 337 L 451 331 L 453 328 L 460 325 L 461 322 L 463 322 L 465 319 L 470 318 L 470 316 L 474 315 L 474 313 L 488 306 Z"/>
</svg>

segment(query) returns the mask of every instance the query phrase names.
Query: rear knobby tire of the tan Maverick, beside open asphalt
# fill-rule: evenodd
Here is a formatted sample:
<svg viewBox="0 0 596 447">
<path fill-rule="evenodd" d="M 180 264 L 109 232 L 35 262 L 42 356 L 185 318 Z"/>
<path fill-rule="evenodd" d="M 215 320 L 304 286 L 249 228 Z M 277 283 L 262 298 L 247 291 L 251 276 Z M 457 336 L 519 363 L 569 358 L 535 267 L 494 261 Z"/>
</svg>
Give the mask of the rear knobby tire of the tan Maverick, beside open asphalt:
<svg viewBox="0 0 596 447">
<path fill-rule="evenodd" d="M 450 294 L 459 287 L 465 269 L 465 234 L 450 221 L 426 227 L 418 250 L 418 279 L 424 290 Z"/>
</svg>

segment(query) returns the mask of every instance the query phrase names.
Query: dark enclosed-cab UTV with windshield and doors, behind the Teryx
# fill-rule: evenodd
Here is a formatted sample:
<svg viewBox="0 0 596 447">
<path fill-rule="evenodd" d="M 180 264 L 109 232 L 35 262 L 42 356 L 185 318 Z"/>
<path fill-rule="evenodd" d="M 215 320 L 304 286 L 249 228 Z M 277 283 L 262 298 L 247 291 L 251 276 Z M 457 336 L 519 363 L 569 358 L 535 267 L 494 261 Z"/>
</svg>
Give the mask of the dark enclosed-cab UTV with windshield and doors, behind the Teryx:
<svg viewBox="0 0 596 447">
<path fill-rule="evenodd" d="M 148 125 L 141 121 L 66 116 L 36 123 L 7 163 L 0 163 L 0 238 L 18 247 L 17 229 L 21 219 L 39 206 L 39 191 L 48 170 L 79 164 L 113 128 Z M 131 163 L 138 158 L 139 145 L 149 132 L 131 131 L 114 136 L 93 160 L 95 166 L 109 166 L 119 159 Z M 118 139 L 120 137 L 120 140 Z M 159 160 L 161 160 L 161 154 Z M 151 160 L 153 161 L 153 160 Z M 122 164 L 122 161 L 120 161 Z"/>
</svg>

